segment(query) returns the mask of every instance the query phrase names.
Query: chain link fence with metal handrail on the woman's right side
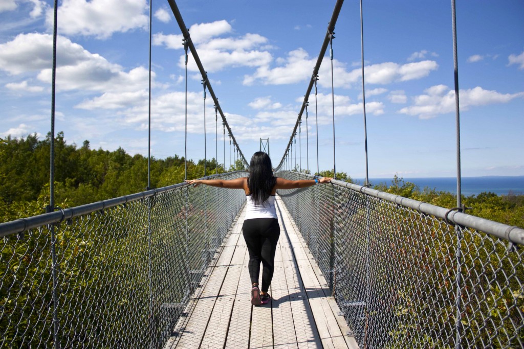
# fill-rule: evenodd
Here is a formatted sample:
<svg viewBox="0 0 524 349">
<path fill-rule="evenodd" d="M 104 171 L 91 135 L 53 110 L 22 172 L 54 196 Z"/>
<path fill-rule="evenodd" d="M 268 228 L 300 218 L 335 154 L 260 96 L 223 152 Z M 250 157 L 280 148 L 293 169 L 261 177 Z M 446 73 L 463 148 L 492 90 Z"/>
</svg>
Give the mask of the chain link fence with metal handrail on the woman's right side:
<svg viewBox="0 0 524 349">
<path fill-rule="evenodd" d="M 524 347 L 524 230 L 333 182 L 279 194 L 362 348 Z"/>
</svg>

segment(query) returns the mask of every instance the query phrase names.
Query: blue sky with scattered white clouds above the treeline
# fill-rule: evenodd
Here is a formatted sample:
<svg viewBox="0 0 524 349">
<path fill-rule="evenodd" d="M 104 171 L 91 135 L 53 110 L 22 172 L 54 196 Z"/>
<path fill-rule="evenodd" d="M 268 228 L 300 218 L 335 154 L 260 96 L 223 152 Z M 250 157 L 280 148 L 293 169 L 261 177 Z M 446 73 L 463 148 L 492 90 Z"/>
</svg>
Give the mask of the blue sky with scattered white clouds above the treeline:
<svg viewBox="0 0 524 349">
<path fill-rule="evenodd" d="M 216 96 L 249 160 L 269 138 L 277 164 L 296 122 L 335 1 L 177 2 Z M 145 0 L 59 1 L 56 131 L 68 143 L 147 156 Z M 181 33 L 167 1 L 152 4 L 151 154 L 184 153 Z M 457 1 L 462 175 L 524 175 L 524 2 Z M 50 130 L 52 2 L 0 0 L 0 137 Z M 455 176 L 451 2 L 364 1 L 370 177 Z M 360 14 L 335 27 L 336 168 L 365 175 Z M 318 82 L 320 168 L 333 168 L 331 65 Z M 188 157 L 204 157 L 201 76 L 188 64 Z M 308 118 L 316 169 L 315 103 Z M 206 99 L 208 157 L 215 154 Z M 304 116 L 305 117 L 305 116 Z M 220 116 L 219 116 L 220 118 Z M 305 118 L 301 160 L 307 167 Z M 226 133 L 227 138 L 227 133 Z M 224 162 L 219 123 L 219 162 Z M 230 148 L 226 139 L 226 165 Z M 297 136 L 297 150 L 299 149 Z"/>
</svg>

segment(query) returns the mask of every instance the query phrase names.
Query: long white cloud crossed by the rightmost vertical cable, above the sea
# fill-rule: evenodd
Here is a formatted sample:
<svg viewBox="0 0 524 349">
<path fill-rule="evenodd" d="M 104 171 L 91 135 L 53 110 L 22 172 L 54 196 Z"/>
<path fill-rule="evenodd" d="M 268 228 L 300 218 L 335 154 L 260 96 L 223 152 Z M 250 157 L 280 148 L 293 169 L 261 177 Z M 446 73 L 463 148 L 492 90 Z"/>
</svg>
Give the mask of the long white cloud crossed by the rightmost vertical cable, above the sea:
<svg viewBox="0 0 524 349">
<path fill-rule="evenodd" d="M 413 98 L 413 105 L 400 109 L 400 114 L 418 116 L 420 119 L 433 118 L 439 114 L 455 111 L 455 92 L 445 85 L 435 85 L 424 91 L 426 94 Z M 482 87 L 475 87 L 459 91 L 461 110 L 468 110 L 473 106 L 495 103 L 507 103 L 511 99 L 524 97 L 524 92 L 515 94 L 501 94 L 489 91 Z"/>
</svg>

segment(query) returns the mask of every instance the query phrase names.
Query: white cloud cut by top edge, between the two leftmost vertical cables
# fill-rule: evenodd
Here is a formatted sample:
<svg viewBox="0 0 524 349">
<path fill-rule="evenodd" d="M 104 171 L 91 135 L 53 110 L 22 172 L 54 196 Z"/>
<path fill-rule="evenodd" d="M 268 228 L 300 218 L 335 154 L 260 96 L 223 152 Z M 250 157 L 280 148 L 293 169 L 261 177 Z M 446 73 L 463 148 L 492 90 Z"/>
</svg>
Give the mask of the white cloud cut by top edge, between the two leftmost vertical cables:
<svg viewBox="0 0 524 349">
<path fill-rule="evenodd" d="M 114 32 L 146 29 L 147 8 L 146 0 L 63 0 L 58 8 L 58 31 L 66 36 L 107 39 Z M 46 24 L 52 28 L 52 9 L 47 10 Z"/>
</svg>

